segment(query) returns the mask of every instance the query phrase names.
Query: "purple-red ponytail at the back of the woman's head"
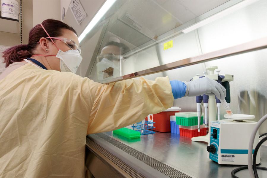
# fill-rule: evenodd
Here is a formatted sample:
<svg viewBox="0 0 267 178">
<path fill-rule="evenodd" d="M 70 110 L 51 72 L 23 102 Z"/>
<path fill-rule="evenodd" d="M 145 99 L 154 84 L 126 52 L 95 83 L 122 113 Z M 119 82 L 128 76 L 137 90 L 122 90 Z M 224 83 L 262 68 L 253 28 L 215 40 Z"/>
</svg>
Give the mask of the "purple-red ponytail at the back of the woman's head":
<svg viewBox="0 0 267 178">
<path fill-rule="evenodd" d="M 23 59 L 30 58 L 30 52 L 28 51 L 28 45 L 17 45 L 8 48 L 3 52 L 3 59 L 8 67 L 13 62 L 20 62 Z"/>
</svg>

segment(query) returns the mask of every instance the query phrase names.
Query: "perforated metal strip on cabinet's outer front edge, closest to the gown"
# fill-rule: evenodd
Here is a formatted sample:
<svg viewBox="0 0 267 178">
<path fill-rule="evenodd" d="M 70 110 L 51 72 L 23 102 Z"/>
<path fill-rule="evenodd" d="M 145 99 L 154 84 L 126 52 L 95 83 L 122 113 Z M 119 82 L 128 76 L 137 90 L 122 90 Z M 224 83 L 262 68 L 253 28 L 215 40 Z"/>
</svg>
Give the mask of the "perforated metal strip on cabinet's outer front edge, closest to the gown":
<svg viewBox="0 0 267 178">
<path fill-rule="evenodd" d="M 122 169 L 126 174 L 128 174 L 130 177 L 136 177 L 136 178 L 143 178 L 141 174 L 136 172 L 134 169 L 123 163 L 121 160 L 107 152 L 107 150 L 100 147 L 98 144 L 94 143 L 92 140 L 86 138 L 86 142 L 90 144 L 90 147 L 95 148 L 101 154 L 103 154 L 106 158 L 108 158 L 112 163 L 114 163 L 116 166 L 118 166 L 120 169 Z"/>
</svg>

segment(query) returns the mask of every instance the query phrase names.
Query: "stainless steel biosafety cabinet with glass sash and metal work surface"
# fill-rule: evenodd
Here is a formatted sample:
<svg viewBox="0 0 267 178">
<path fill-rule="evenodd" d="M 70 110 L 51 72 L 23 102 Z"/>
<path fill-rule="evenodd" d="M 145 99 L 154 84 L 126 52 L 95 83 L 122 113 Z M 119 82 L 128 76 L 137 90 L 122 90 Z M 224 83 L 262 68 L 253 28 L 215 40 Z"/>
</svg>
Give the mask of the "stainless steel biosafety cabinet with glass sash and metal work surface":
<svg viewBox="0 0 267 178">
<path fill-rule="evenodd" d="M 86 13 L 80 23 L 70 8 L 66 12 L 63 22 L 77 29 L 82 50 L 77 74 L 101 83 L 165 76 L 190 81 L 207 66 L 218 66 L 235 79 L 233 113 L 255 115 L 256 122 L 267 113 L 266 0 L 117 0 L 103 12 L 106 2 L 80 0 Z M 98 11 L 100 20 L 89 29 Z M 174 106 L 196 111 L 196 98 L 177 99 Z M 208 160 L 206 146 L 171 133 L 138 142 L 112 132 L 92 134 L 86 165 L 96 177 L 231 177 L 236 167 Z"/>
</svg>

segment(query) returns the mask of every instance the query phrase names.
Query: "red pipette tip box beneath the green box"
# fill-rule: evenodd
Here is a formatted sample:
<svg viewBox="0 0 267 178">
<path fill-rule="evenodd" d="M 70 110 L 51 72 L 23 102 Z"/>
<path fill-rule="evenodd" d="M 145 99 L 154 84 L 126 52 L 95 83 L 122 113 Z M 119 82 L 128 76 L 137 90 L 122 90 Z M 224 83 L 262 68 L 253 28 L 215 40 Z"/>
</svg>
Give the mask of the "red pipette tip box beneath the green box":
<svg viewBox="0 0 267 178">
<path fill-rule="evenodd" d="M 207 133 L 206 127 L 204 124 L 200 126 L 200 132 L 198 132 L 198 126 L 197 125 L 195 125 L 195 126 L 182 126 L 182 128 L 181 128 L 181 126 L 182 125 L 179 125 L 180 136 L 186 136 L 186 137 L 192 138 L 192 137 L 196 137 L 196 136 L 205 136 Z M 196 129 L 192 129 L 192 127 L 196 128 Z M 186 129 L 186 128 L 189 128 L 189 129 Z"/>
</svg>

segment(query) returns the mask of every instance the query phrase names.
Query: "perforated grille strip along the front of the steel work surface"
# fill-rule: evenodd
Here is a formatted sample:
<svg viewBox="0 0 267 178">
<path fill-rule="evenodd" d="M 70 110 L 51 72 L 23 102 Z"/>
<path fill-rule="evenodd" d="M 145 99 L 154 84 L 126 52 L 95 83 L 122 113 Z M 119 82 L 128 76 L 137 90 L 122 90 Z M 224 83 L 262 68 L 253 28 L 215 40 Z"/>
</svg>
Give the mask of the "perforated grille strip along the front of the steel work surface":
<svg viewBox="0 0 267 178">
<path fill-rule="evenodd" d="M 176 169 L 161 163 L 160 161 L 151 158 L 148 155 L 145 155 L 142 152 L 139 152 L 138 150 L 135 150 L 132 147 L 129 147 L 128 145 L 125 145 L 105 134 L 99 133 L 99 134 L 95 134 L 96 136 L 100 137 L 101 139 L 106 140 L 107 142 L 113 144 L 114 146 L 120 148 L 121 150 L 123 150 L 124 152 L 127 152 L 128 154 L 134 156 L 135 158 L 139 159 L 140 161 L 146 163 L 147 165 L 151 166 L 152 168 L 160 171 L 161 173 L 165 174 L 168 177 L 182 177 L 182 178 L 190 178 L 190 176 L 177 171 Z"/>
</svg>

